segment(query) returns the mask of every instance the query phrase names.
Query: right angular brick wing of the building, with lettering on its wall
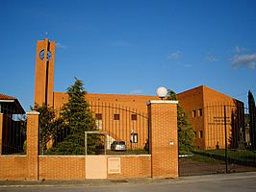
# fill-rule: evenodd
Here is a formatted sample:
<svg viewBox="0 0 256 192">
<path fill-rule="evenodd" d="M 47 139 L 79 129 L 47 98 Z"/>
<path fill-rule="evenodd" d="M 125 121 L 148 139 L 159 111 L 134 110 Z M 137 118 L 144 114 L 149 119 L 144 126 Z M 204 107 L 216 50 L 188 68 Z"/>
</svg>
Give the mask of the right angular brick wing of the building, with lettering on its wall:
<svg viewBox="0 0 256 192">
<path fill-rule="evenodd" d="M 232 132 L 237 132 L 234 131 L 234 128 L 232 130 L 232 115 L 234 115 L 234 111 L 243 114 L 243 102 L 205 85 L 179 93 L 177 96 L 181 107 L 185 109 L 192 123 L 195 133 L 194 146 L 202 150 L 211 150 L 216 149 L 218 145 L 223 149 L 225 147 L 223 107 L 227 107 L 227 138 L 231 138 Z M 239 140 L 239 138 L 234 140 Z M 228 144 L 230 144 L 230 139 Z"/>
</svg>

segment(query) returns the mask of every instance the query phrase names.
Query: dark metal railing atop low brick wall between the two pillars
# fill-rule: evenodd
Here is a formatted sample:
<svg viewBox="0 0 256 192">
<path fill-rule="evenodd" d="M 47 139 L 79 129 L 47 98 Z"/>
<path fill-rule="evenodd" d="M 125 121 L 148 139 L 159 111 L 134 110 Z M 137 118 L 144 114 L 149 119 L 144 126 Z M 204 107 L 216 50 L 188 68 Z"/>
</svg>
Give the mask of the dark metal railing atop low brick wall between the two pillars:
<svg viewBox="0 0 256 192">
<path fill-rule="evenodd" d="M 64 141 L 70 130 L 59 128 L 53 139 L 45 145 L 40 143 L 40 155 L 127 155 L 149 153 L 149 132 L 147 113 L 138 109 L 122 107 L 102 102 L 90 103 L 90 112 L 95 121 L 96 130 L 81 135 L 81 149 L 78 153 L 68 152 L 69 144 L 63 145 L 66 150 L 59 153 L 54 147 Z M 40 130 L 40 129 L 39 129 Z M 66 139 L 65 139 L 66 140 Z M 46 147 L 46 148 L 45 148 Z M 42 149 L 43 148 L 43 149 Z M 49 150 L 47 150 L 47 148 Z"/>
</svg>

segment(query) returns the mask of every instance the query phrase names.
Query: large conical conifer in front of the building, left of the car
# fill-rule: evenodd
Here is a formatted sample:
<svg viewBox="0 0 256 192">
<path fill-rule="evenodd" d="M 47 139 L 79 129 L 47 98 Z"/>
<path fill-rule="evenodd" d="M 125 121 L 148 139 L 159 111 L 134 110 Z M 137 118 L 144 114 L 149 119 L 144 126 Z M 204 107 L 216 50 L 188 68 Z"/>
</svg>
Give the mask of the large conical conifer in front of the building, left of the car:
<svg viewBox="0 0 256 192">
<path fill-rule="evenodd" d="M 85 154 L 85 132 L 96 129 L 90 105 L 85 99 L 87 91 L 83 85 L 81 80 L 75 78 L 75 83 L 67 88 L 68 102 L 60 112 L 63 127 L 59 135 L 60 132 L 65 133 L 61 141 L 51 150 L 54 154 Z M 92 137 L 90 137 L 91 143 L 93 143 Z"/>
</svg>

